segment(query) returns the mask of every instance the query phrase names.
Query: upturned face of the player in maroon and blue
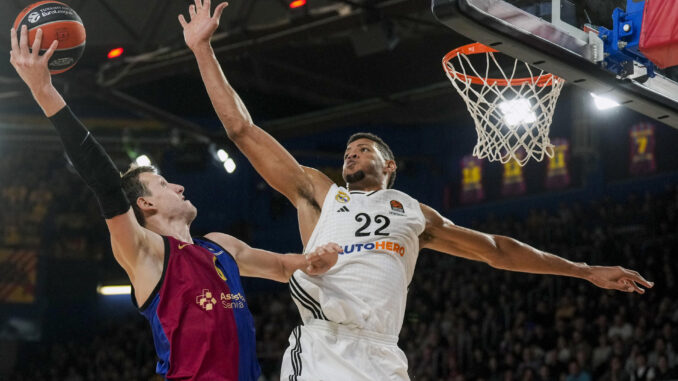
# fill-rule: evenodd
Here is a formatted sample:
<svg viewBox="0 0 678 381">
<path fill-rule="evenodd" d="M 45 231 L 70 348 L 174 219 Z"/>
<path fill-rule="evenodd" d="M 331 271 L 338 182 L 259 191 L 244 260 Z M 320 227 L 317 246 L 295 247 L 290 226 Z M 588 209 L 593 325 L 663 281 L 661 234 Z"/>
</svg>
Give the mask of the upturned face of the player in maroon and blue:
<svg viewBox="0 0 678 381">
<path fill-rule="evenodd" d="M 140 174 L 139 180 L 144 182 L 151 193 L 150 196 L 143 198 L 152 205 L 155 213 L 169 219 L 185 218 L 188 223 L 193 221 L 197 209 L 184 196 L 183 186 L 172 184 L 164 177 L 151 172 Z"/>
</svg>

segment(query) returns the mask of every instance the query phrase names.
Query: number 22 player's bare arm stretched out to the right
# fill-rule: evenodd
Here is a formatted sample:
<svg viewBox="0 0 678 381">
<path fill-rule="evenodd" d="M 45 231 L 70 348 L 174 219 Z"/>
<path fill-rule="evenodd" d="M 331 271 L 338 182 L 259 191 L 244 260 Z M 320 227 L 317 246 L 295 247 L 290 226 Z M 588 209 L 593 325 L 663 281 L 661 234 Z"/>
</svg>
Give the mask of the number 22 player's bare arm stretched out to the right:
<svg viewBox="0 0 678 381">
<path fill-rule="evenodd" d="M 485 262 L 503 270 L 586 279 L 606 289 L 643 294 L 645 290 L 638 285 L 647 288 L 654 285 L 636 271 L 571 262 L 510 237 L 456 226 L 426 205 L 421 204 L 421 210 L 426 217 L 426 230 L 419 237 L 422 248 Z"/>
</svg>

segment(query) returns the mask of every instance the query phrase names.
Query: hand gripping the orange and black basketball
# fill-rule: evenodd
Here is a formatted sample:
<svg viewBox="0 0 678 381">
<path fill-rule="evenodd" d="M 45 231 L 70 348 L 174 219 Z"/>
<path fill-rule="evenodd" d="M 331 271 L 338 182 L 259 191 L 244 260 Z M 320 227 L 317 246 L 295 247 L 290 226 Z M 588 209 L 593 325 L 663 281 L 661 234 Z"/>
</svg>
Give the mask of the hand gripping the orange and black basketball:
<svg viewBox="0 0 678 381">
<path fill-rule="evenodd" d="M 35 41 L 33 46 L 28 47 L 28 28 L 26 25 L 21 27 L 21 39 L 17 37 L 17 31 L 12 28 L 10 31 L 10 38 L 12 43 L 12 50 L 10 51 L 9 62 L 14 66 L 19 77 L 26 82 L 33 93 L 39 91 L 47 86 L 52 85 L 52 77 L 49 74 L 47 63 L 54 54 L 58 41 L 52 42 L 45 54 L 40 55 L 40 46 L 42 44 L 42 29 L 38 29 L 35 34 Z"/>
</svg>

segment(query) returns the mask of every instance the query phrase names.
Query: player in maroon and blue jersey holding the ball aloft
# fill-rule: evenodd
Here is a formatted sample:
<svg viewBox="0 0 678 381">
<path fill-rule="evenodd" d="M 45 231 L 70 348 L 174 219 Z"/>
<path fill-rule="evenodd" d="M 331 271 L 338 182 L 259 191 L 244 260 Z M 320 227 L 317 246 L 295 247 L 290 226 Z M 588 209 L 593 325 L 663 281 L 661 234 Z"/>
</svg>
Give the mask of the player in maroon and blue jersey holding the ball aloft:
<svg viewBox="0 0 678 381">
<path fill-rule="evenodd" d="M 218 232 L 193 238 L 197 210 L 184 188 L 152 167 L 120 176 L 52 86 L 47 62 L 57 43 L 39 56 L 41 39 L 39 30 L 31 51 L 26 28 L 20 40 L 12 29 L 10 61 L 99 201 L 113 255 L 132 283 L 133 302 L 150 322 L 156 372 L 168 380 L 257 380 L 254 324 L 240 276 L 279 282 L 296 270 L 316 276 L 336 263 L 341 248 L 327 244 L 307 255 L 281 255 Z"/>
</svg>

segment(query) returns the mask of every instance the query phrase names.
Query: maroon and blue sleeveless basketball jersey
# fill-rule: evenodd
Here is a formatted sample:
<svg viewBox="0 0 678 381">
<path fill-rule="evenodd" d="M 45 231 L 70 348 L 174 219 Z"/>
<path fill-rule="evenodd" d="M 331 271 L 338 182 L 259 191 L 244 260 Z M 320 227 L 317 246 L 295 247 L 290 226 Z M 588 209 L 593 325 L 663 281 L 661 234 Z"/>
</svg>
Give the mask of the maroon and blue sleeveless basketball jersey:
<svg viewBox="0 0 678 381">
<path fill-rule="evenodd" d="M 164 240 L 162 277 L 139 308 L 151 324 L 156 372 L 168 380 L 256 380 L 254 321 L 235 260 L 206 238 Z"/>
</svg>

